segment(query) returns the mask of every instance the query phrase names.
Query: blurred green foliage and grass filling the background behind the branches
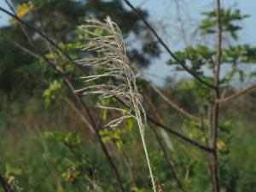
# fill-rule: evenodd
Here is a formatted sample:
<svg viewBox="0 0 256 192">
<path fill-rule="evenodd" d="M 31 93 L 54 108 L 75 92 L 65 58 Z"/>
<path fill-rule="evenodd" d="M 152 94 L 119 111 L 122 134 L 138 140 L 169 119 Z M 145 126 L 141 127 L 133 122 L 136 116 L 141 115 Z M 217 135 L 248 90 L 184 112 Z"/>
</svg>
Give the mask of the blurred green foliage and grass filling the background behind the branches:
<svg viewBox="0 0 256 192">
<path fill-rule="evenodd" d="M 150 61 L 160 56 L 160 45 L 137 15 L 125 9 L 122 1 L 12 0 L 11 4 L 22 20 L 44 32 L 74 60 L 88 56 L 79 50 L 79 46 L 84 44 L 84 34 L 77 27 L 83 24 L 86 15 L 96 16 L 99 20 L 110 15 L 117 22 L 124 34 L 129 59 L 137 67 L 148 67 Z M 149 15 L 146 10 L 139 9 L 139 12 L 145 18 Z M 239 9 L 222 9 L 221 13 L 225 37 L 237 42 L 237 32 L 242 29 L 239 22 L 248 15 L 241 15 Z M 199 26 L 201 35 L 211 36 L 215 33 L 215 11 L 205 11 L 202 15 L 205 20 Z M 79 70 L 73 68 L 70 61 L 58 51 L 50 52 L 49 44 L 45 44 L 44 39 L 30 30 L 27 35 L 32 39 L 31 47 L 15 20 L 10 20 L 9 26 L 2 26 L 0 32 L 0 174 L 14 190 L 19 185 L 27 192 L 115 191 L 116 183 L 106 157 L 95 135 L 73 111 L 70 102 L 72 94 L 61 75 L 44 61 L 14 46 L 13 42 L 37 50 L 49 60 L 63 63 L 65 75 L 73 79 L 76 88 L 83 86 Z M 241 81 L 255 76 L 255 72 L 245 75 L 240 67 L 241 64 L 256 61 L 255 50 L 248 44 L 224 45 L 223 62 L 232 66 L 231 71 L 220 80 L 225 95 L 234 92 L 230 87 L 234 75 L 239 74 Z M 212 69 L 212 58 L 216 54 L 214 49 L 204 44 L 189 45 L 175 54 L 194 73 L 212 82 L 212 76 L 205 71 L 206 67 Z M 183 70 L 172 59 L 166 64 L 173 65 L 178 71 Z M 88 68 L 83 70 L 94 73 Z M 154 110 L 157 110 L 166 125 L 201 143 L 207 143 L 207 125 L 204 127 L 199 122 L 185 119 L 148 89 L 143 80 L 138 79 L 138 84 L 143 96 L 148 98 L 144 100 L 154 103 L 155 107 L 150 108 L 150 102 L 145 102 L 149 115 L 154 117 Z M 160 90 L 168 98 L 175 98 L 174 102 L 189 113 L 202 118 L 207 116 L 210 90 L 195 79 L 183 79 L 180 82 L 166 79 Z M 252 91 L 221 107 L 217 145 L 222 192 L 256 191 L 255 94 Z M 96 97 L 87 96 L 84 102 L 90 106 L 94 118 L 100 123 L 106 123 L 114 115 L 97 110 L 94 107 L 99 102 Z M 149 191 L 148 171 L 135 126 L 130 120 L 117 130 L 102 129 L 100 135 L 118 167 L 125 191 Z M 160 189 L 179 190 L 173 173 L 166 168 L 165 152 L 160 148 L 156 136 L 163 141 L 184 189 L 189 192 L 210 191 L 207 154 L 159 130 L 150 130 L 148 126 L 149 155 Z M 0 188 L 0 191 L 3 189 Z"/>
</svg>

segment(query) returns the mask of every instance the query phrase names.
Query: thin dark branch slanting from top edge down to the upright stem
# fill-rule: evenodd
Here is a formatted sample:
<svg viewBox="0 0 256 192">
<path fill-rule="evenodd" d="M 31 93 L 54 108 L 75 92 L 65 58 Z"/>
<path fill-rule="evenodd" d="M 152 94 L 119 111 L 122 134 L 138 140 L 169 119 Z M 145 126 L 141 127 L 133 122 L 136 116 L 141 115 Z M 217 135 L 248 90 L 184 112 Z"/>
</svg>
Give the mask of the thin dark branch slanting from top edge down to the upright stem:
<svg viewBox="0 0 256 192">
<path fill-rule="evenodd" d="M 200 77 L 198 77 L 195 73 L 193 73 L 189 67 L 186 66 L 185 63 L 183 63 L 182 61 L 180 61 L 176 55 L 174 55 L 174 53 L 172 52 L 172 50 L 166 45 L 166 43 L 162 40 L 162 38 L 160 38 L 159 34 L 154 30 L 154 28 L 148 23 L 148 21 L 146 19 L 143 18 L 143 15 L 141 15 L 139 13 L 139 11 L 130 3 L 129 0 L 124 0 L 125 3 L 133 10 L 133 12 L 141 19 L 143 20 L 143 23 L 148 27 L 148 29 L 154 34 L 154 37 L 157 38 L 157 40 L 159 41 L 159 43 L 166 49 L 166 51 L 168 52 L 169 55 L 172 56 L 172 58 L 177 61 L 177 63 L 179 65 L 181 65 L 183 67 L 183 69 L 185 71 L 187 71 L 190 75 L 192 75 L 195 79 L 197 79 L 199 82 L 201 82 L 201 84 L 205 84 L 207 85 L 207 87 L 215 89 L 215 86 L 212 84 L 207 83 L 207 81 L 201 79 Z"/>
</svg>

